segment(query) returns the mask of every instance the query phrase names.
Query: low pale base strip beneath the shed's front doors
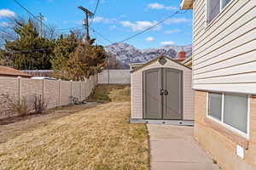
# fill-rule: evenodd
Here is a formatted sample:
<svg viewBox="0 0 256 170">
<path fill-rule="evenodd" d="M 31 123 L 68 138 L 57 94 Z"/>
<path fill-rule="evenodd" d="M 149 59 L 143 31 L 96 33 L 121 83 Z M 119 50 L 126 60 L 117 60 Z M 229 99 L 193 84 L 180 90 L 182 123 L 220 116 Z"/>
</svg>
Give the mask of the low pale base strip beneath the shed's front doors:
<svg viewBox="0 0 256 170">
<path fill-rule="evenodd" d="M 132 123 L 148 123 L 148 124 L 166 124 L 180 126 L 194 126 L 194 121 L 190 120 L 148 120 L 148 119 L 131 119 Z"/>
</svg>

